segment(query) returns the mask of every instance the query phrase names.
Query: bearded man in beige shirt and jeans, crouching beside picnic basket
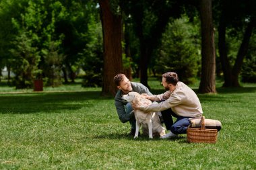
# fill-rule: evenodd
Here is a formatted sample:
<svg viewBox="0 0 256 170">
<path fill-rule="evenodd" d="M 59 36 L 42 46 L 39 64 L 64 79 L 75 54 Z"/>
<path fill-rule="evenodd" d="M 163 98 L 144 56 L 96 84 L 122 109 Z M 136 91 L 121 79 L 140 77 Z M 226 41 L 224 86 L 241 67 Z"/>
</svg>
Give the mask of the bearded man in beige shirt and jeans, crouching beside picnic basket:
<svg viewBox="0 0 256 170">
<path fill-rule="evenodd" d="M 168 116 L 170 118 L 171 116 L 176 117 L 177 121 L 174 124 L 170 124 L 169 128 L 166 127 L 170 132 L 162 136 L 162 138 L 170 138 L 177 136 L 177 134 L 187 133 L 187 127 L 190 124 L 189 118 L 200 117 L 203 114 L 197 95 L 191 88 L 179 81 L 177 73 L 174 72 L 164 73 L 161 84 L 166 89 L 165 93 L 160 95 L 143 94 L 152 101 L 161 101 L 160 103 L 143 106 L 134 104 L 133 108 L 146 112 L 161 112 L 171 109 Z"/>
</svg>

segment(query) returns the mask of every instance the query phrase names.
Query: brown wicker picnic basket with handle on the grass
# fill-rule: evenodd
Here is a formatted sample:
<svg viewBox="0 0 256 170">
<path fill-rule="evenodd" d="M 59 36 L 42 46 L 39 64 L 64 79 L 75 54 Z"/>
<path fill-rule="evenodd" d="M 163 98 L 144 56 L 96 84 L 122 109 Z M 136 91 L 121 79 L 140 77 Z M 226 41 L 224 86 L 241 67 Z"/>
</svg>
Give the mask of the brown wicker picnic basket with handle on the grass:
<svg viewBox="0 0 256 170">
<path fill-rule="evenodd" d="M 217 129 L 205 129 L 205 118 L 201 117 L 201 128 L 187 128 L 188 142 L 215 143 L 217 141 Z"/>
</svg>

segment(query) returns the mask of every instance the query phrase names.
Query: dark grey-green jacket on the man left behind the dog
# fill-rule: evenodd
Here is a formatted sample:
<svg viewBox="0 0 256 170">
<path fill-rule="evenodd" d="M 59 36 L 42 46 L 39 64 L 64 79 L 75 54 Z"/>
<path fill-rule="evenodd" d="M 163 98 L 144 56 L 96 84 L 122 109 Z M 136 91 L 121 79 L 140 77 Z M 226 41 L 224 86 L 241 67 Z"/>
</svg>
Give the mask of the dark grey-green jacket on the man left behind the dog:
<svg viewBox="0 0 256 170">
<path fill-rule="evenodd" d="M 135 91 L 137 93 L 140 93 L 140 94 L 147 93 L 148 95 L 152 95 L 152 93 L 150 93 L 149 89 L 145 85 L 142 85 L 141 83 L 131 82 L 131 87 L 133 88 L 133 91 Z M 125 105 L 128 102 L 122 99 L 122 95 L 123 95 L 123 93 L 119 89 L 115 96 L 115 106 L 117 108 L 117 114 L 119 116 L 119 119 L 121 120 L 121 122 L 125 123 L 125 122 L 128 122 L 131 119 L 131 117 L 134 116 L 134 114 L 133 114 L 133 112 L 127 113 L 125 111 Z"/>
</svg>

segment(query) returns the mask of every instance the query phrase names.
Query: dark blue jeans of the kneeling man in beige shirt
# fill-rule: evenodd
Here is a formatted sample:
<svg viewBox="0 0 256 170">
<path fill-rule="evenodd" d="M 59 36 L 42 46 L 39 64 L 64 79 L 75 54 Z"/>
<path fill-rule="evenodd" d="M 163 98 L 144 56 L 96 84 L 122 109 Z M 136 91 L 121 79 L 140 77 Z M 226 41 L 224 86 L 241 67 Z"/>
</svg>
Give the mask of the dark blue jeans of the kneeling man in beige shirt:
<svg viewBox="0 0 256 170">
<path fill-rule="evenodd" d="M 162 118 L 164 120 L 164 124 L 167 130 L 170 130 L 174 134 L 186 134 L 187 127 L 189 126 L 189 118 L 191 117 L 183 117 L 177 116 L 171 109 L 164 110 L 161 112 Z M 173 123 L 172 116 L 177 118 L 176 122 Z"/>
</svg>

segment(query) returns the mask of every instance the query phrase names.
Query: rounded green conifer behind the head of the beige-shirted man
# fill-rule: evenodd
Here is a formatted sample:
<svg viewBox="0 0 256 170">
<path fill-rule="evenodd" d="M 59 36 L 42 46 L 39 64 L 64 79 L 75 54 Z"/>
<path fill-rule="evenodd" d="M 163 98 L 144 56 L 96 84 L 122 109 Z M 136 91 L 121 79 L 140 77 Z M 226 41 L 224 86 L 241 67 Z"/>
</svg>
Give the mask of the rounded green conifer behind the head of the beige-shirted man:
<svg viewBox="0 0 256 170">
<path fill-rule="evenodd" d="M 200 45 L 198 26 L 189 23 L 187 17 L 176 19 L 168 25 L 162 44 L 156 52 L 156 73 L 174 71 L 180 80 L 193 83 L 200 71 Z"/>
</svg>

